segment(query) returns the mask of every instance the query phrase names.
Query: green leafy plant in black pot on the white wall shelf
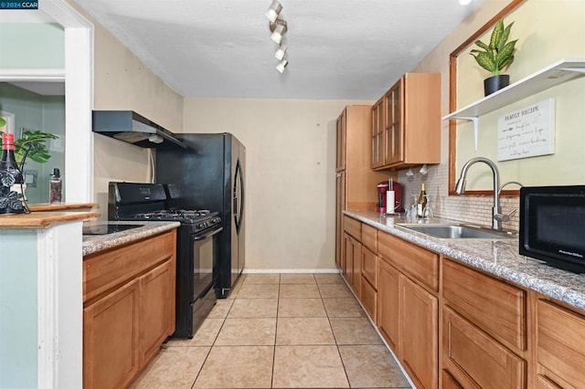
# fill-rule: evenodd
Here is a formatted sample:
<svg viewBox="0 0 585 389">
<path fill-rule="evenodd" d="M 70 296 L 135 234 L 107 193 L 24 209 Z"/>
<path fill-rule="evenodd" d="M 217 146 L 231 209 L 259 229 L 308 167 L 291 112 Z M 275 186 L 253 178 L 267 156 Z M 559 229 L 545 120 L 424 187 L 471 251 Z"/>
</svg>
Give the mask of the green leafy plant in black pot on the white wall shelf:
<svg viewBox="0 0 585 389">
<path fill-rule="evenodd" d="M 479 66 L 492 73 L 492 77 L 484 79 L 485 96 L 508 86 L 510 83 L 510 76 L 500 72 L 514 61 L 518 40 L 508 42 L 513 25 L 514 22 L 504 26 L 504 19 L 498 20 L 492 31 L 489 45 L 478 39 L 475 41 L 475 45 L 480 49 L 473 48 L 471 50 L 470 54 Z"/>
</svg>

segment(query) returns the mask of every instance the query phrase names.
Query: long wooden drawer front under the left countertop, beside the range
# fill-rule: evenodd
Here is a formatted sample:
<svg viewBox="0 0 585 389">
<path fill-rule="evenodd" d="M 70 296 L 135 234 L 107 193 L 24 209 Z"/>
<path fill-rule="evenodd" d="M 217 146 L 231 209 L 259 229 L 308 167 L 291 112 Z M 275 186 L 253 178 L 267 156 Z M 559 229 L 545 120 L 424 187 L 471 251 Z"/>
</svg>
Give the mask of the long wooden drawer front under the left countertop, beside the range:
<svg viewBox="0 0 585 389">
<path fill-rule="evenodd" d="M 83 258 L 83 302 L 154 268 L 176 252 L 176 230 Z"/>
</svg>

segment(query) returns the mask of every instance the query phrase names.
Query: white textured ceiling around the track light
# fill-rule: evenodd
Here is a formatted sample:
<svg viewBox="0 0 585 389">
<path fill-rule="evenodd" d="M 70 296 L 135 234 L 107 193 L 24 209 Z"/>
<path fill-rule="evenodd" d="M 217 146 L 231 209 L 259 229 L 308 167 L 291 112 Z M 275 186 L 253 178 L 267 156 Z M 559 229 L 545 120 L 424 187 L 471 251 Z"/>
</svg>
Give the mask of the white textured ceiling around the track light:
<svg viewBox="0 0 585 389">
<path fill-rule="evenodd" d="M 374 100 L 480 0 L 282 0 L 283 74 L 271 0 L 75 1 L 186 97 Z"/>
</svg>

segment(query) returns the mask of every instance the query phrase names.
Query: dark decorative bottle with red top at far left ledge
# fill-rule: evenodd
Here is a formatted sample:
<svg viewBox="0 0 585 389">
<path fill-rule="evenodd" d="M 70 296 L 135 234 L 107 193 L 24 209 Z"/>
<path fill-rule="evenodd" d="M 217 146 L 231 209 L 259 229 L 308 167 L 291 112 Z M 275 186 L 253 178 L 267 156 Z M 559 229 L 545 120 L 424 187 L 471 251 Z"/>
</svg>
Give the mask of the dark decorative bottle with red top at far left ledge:
<svg viewBox="0 0 585 389">
<path fill-rule="evenodd" d="M 22 195 L 23 177 L 15 159 L 15 134 L 2 134 L 2 159 L 0 160 L 0 214 L 27 212 Z"/>
</svg>

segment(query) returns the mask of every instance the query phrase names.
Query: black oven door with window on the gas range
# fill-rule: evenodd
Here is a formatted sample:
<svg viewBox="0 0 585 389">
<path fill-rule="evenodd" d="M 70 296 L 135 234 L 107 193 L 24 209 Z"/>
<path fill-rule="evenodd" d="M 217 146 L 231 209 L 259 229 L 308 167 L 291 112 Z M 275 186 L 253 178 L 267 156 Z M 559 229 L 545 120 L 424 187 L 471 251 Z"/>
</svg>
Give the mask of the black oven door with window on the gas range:
<svg viewBox="0 0 585 389">
<path fill-rule="evenodd" d="M 214 269 L 218 266 L 219 232 L 223 228 L 218 226 L 212 230 L 191 235 L 193 258 L 193 295 L 192 301 L 203 298 L 207 291 L 216 284 Z"/>
</svg>

